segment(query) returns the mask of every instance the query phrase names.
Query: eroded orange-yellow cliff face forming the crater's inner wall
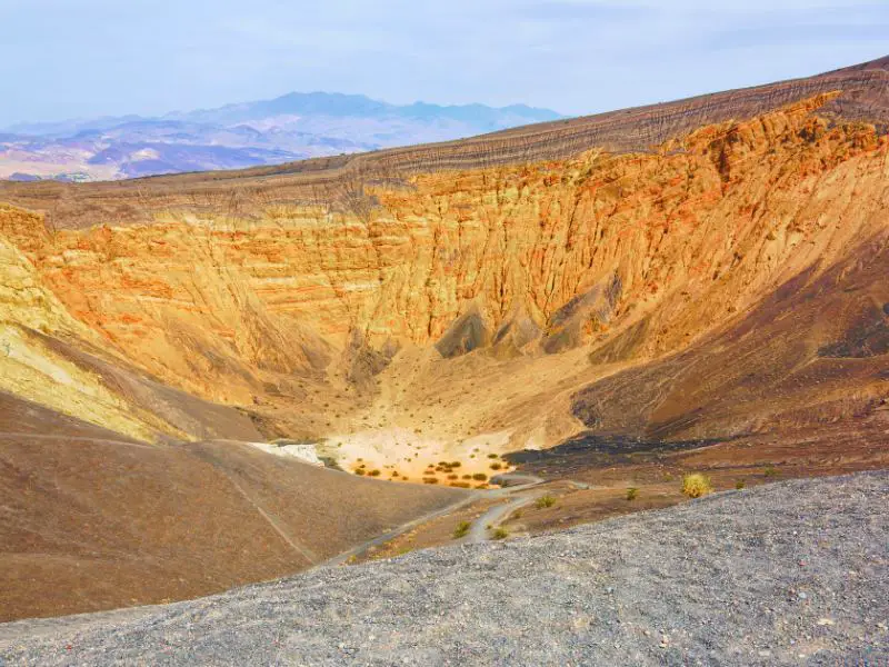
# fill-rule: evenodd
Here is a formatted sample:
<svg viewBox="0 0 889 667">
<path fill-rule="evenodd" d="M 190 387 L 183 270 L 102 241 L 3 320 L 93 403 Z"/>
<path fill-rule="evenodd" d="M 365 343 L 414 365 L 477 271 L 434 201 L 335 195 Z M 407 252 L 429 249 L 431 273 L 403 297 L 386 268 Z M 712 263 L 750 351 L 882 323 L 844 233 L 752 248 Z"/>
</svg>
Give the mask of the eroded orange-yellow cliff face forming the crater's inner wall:
<svg viewBox="0 0 889 667">
<path fill-rule="evenodd" d="M 428 406 L 465 416 L 420 427 L 449 441 L 549 445 L 583 427 L 571 392 L 681 352 L 887 229 L 889 139 L 819 117 L 835 97 L 651 153 L 420 173 L 259 219 L 71 230 L 3 208 L 4 285 L 28 287 L 0 295 L 2 318 L 283 430 L 348 435 L 383 414 L 414 430 Z"/>
</svg>

